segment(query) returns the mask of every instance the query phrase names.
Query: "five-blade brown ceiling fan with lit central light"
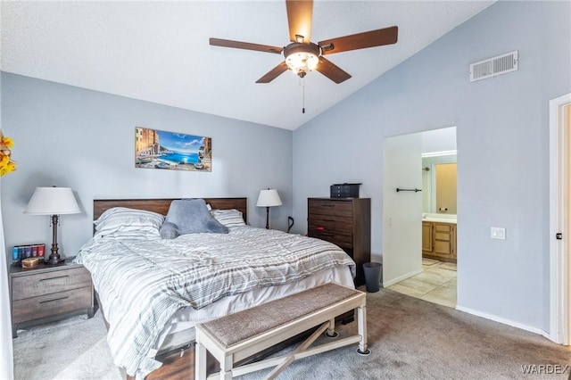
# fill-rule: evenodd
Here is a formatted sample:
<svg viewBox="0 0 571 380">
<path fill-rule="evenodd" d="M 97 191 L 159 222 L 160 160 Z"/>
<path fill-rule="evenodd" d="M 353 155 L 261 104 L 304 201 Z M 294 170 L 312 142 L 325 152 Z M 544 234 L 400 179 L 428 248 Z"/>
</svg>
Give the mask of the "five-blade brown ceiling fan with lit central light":
<svg viewBox="0 0 571 380">
<path fill-rule="evenodd" d="M 366 47 L 391 45 L 397 41 L 399 29 L 393 26 L 331 38 L 314 44 L 310 41 L 313 0 L 285 0 L 285 8 L 291 41 L 291 44 L 285 47 L 251 44 L 220 38 L 210 38 L 210 44 L 273 54 L 283 53 L 285 61 L 269 70 L 263 77 L 256 80 L 256 83 L 269 83 L 286 70 L 294 71 L 300 78 L 305 77 L 308 71 L 317 70 L 335 83 L 341 83 L 351 78 L 351 75 L 327 60 L 324 55 Z"/>
</svg>

